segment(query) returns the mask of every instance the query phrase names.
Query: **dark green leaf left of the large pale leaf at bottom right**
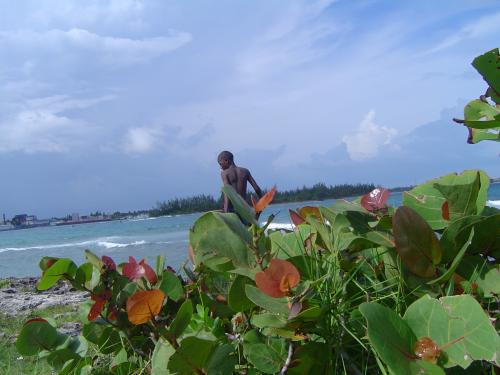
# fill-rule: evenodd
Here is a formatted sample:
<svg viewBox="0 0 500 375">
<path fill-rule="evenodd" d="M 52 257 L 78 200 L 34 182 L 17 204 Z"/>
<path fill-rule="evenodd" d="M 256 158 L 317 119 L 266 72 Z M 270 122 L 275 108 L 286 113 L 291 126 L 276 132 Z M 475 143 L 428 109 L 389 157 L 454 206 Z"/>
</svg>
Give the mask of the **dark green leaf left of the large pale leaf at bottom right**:
<svg viewBox="0 0 500 375">
<path fill-rule="evenodd" d="M 408 324 L 393 310 L 377 302 L 365 302 L 359 311 L 368 323 L 368 339 L 394 374 L 417 374 L 411 369 L 417 341 Z"/>
</svg>

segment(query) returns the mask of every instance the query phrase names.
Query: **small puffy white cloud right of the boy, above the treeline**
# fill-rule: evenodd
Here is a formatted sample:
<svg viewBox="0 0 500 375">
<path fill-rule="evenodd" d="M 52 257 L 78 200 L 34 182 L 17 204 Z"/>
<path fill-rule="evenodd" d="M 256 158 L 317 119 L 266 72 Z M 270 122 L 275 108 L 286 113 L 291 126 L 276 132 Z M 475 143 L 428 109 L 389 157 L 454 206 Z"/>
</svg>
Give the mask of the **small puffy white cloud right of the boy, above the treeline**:
<svg viewBox="0 0 500 375">
<path fill-rule="evenodd" d="M 375 111 L 371 110 L 361 121 L 355 133 L 342 138 L 352 160 L 362 161 L 376 157 L 380 148 L 391 144 L 397 134 L 396 129 L 375 124 L 374 118 Z"/>
</svg>

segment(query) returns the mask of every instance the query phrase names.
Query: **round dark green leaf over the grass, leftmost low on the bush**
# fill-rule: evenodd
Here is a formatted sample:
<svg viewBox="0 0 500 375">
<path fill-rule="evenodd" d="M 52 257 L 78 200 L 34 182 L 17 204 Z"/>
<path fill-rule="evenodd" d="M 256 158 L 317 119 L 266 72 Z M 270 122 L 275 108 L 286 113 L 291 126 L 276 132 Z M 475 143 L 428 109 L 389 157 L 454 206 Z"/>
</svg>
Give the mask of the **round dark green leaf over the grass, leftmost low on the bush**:
<svg viewBox="0 0 500 375">
<path fill-rule="evenodd" d="M 35 355 L 55 347 L 57 331 L 43 320 L 28 321 L 16 340 L 16 349 L 22 355 Z"/>
</svg>

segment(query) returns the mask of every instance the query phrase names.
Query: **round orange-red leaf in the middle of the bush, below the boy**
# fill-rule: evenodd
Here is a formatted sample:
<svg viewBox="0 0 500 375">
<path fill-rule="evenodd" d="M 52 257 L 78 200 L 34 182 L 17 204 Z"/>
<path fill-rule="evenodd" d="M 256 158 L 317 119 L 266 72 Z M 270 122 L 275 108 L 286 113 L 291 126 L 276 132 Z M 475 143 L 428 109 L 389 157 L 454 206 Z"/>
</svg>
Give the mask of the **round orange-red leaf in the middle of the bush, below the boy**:
<svg viewBox="0 0 500 375">
<path fill-rule="evenodd" d="M 295 266 L 282 259 L 272 259 L 264 272 L 255 275 L 257 287 L 270 297 L 288 295 L 300 281 L 300 273 Z"/>
</svg>

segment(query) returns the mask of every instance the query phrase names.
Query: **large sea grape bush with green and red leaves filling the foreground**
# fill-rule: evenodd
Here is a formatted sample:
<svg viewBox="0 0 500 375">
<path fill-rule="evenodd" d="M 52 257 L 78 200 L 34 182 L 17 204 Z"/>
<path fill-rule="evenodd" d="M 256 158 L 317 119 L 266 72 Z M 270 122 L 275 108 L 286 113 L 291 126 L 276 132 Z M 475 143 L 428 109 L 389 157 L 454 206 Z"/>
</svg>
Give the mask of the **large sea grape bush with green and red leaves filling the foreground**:
<svg viewBox="0 0 500 375">
<path fill-rule="evenodd" d="M 59 374 L 446 374 L 498 366 L 500 210 L 482 171 L 404 193 L 291 211 L 293 230 L 256 217 L 272 190 L 189 232 L 193 267 L 42 258 L 38 289 L 89 293 L 71 337 L 31 319 L 17 348 Z M 245 222 L 243 224 L 242 222 Z M 497 368 L 498 370 L 498 368 Z"/>
</svg>

